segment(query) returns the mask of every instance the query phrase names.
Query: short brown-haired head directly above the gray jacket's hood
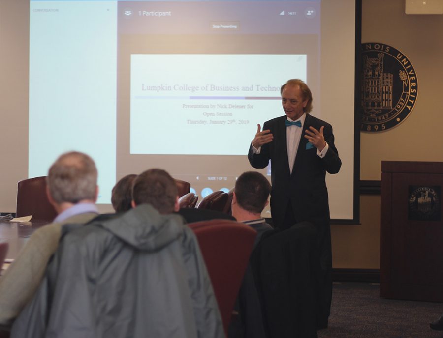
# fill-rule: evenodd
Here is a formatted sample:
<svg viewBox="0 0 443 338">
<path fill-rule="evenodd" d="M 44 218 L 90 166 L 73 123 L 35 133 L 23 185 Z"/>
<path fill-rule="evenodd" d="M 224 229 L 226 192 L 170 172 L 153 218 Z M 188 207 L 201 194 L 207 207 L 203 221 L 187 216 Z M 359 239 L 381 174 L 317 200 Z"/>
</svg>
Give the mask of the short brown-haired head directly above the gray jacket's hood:
<svg viewBox="0 0 443 338">
<path fill-rule="evenodd" d="M 160 214 L 179 210 L 177 185 L 163 169 L 149 169 L 138 175 L 132 186 L 132 206 L 148 203 Z"/>
</svg>

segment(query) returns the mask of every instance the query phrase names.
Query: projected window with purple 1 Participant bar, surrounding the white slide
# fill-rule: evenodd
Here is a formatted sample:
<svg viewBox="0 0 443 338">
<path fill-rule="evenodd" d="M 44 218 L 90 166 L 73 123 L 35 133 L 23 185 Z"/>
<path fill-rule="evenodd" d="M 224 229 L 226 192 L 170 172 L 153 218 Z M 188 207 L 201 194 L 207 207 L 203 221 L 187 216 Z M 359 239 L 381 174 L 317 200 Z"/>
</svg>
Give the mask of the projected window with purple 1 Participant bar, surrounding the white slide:
<svg viewBox="0 0 443 338">
<path fill-rule="evenodd" d="M 117 173 L 158 167 L 199 198 L 227 191 L 252 170 L 257 124 L 284 114 L 281 85 L 319 93 L 320 1 L 120 1 L 118 12 Z"/>
</svg>

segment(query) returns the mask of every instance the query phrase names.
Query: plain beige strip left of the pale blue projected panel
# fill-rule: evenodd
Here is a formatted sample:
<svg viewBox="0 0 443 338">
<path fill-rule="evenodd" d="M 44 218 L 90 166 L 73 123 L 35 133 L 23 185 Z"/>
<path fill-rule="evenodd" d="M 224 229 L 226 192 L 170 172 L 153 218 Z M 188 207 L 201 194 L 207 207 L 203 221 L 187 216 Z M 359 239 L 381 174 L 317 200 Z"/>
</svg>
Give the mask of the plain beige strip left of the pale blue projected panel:
<svg viewBox="0 0 443 338">
<path fill-rule="evenodd" d="M 15 212 L 17 182 L 28 178 L 29 101 L 28 95 L 23 95 L 28 91 L 29 39 L 25 38 L 29 34 L 28 13 L 27 0 L 0 0 L 0 176 L 2 177 L 0 211 L 2 212 Z M 20 18 L 18 23 L 17 18 Z"/>
</svg>

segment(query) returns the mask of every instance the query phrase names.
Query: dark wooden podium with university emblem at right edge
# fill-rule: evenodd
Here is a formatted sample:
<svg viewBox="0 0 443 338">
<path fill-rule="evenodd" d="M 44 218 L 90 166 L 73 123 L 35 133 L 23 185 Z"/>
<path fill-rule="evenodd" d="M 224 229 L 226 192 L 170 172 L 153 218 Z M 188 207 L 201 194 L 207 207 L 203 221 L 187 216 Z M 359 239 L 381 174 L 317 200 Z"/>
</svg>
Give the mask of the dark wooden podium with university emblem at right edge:
<svg viewBox="0 0 443 338">
<path fill-rule="evenodd" d="M 443 162 L 381 162 L 380 296 L 443 302 Z"/>
</svg>

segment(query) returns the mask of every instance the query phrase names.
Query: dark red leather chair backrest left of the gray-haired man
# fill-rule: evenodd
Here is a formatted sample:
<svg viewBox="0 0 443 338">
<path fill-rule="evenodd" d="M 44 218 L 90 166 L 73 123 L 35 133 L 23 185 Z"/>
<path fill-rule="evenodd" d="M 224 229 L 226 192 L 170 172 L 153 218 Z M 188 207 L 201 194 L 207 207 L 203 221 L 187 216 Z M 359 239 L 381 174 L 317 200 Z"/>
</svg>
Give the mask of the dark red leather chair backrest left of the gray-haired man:
<svg viewBox="0 0 443 338">
<path fill-rule="evenodd" d="M 32 221 L 51 222 L 57 212 L 46 196 L 46 176 L 17 183 L 16 217 L 32 215 Z"/>
</svg>

